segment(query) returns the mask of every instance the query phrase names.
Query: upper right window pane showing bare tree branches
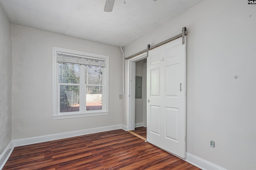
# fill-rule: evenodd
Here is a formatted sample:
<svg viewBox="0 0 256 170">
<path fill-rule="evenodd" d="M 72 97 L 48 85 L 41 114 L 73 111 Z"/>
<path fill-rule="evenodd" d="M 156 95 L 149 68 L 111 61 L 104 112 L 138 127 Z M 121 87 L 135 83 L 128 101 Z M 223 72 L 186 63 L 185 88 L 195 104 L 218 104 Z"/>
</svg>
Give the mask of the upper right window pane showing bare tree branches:
<svg viewBox="0 0 256 170">
<path fill-rule="evenodd" d="M 102 84 L 102 66 L 85 65 L 85 83 Z"/>
</svg>

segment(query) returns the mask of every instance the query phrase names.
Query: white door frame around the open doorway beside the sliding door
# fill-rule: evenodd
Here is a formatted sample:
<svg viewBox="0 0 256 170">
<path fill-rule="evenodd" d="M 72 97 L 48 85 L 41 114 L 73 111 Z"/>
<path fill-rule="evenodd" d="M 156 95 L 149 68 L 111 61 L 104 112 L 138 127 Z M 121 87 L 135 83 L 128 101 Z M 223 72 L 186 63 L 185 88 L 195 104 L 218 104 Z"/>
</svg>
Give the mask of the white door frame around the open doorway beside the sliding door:
<svg viewBox="0 0 256 170">
<path fill-rule="evenodd" d="M 147 53 L 142 53 L 136 57 L 128 59 L 129 62 L 129 111 L 128 111 L 128 131 L 135 129 L 135 73 L 136 62 L 146 59 Z"/>
</svg>

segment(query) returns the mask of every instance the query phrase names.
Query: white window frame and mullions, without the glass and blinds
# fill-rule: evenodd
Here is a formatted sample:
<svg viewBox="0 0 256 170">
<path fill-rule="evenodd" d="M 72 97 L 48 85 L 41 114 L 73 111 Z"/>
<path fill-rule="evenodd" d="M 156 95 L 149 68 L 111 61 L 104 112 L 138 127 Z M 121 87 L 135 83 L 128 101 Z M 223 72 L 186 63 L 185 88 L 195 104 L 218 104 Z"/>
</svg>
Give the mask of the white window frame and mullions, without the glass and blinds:
<svg viewBox="0 0 256 170">
<path fill-rule="evenodd" d="M 102 109 L 101 110 L 90 110 L 86 111 L 86 82 L 85 80 L 85 64 L 80 64 L 80 104 L 79 111 L 60 112 L 60 85 L 66 83 L 58 82 L 58 61 L 57 53 L 68 53 L 70 55 L 79 56 L 85 59 L 101 59 L 106 62 L 106 66 L 102 67 Z M 69 62 L 68 62 L 69 63 Z M 90 64 L 89 64 L 90 65 Z M 94 64 L 91 64 L 94 65 Z M 59 47 L 52 47 L 52 119 L 68 119 L 75 117 L 88 117 L 88 116 L 99 116 L 108 115 L 108 96 L 109 96 L 109 56 L 100 55 L 94 53 L 88 53 L 83 51 L 76 51 L 71 49 L 64 49 Z M 78 85 L 68 83 L 66 85 Z"/>
</svg>

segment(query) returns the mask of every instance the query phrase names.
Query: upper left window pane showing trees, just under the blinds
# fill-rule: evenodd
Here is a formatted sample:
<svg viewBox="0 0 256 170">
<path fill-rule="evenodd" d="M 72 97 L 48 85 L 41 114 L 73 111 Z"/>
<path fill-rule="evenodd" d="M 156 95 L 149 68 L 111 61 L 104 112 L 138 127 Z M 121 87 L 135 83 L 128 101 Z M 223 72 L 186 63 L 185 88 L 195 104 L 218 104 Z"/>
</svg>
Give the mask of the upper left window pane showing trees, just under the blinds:
<svg viewBox="0 0 256 170">
<path fill-rule="evenodd" d="M 59 83 L 74 83 L 80 82 L 80 65 L 73 63 L 58 63 Z"/>
</svg>

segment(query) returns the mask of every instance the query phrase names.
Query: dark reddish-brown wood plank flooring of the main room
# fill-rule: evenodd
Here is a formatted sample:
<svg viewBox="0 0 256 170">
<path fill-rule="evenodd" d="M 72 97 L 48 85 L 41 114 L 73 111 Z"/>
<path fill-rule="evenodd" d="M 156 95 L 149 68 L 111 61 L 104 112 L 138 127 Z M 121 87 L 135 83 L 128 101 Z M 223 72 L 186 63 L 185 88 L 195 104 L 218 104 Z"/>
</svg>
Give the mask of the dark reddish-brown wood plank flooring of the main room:
<svg viewBox="0 0 256 170">
<path fill-rule="evenodd" d="M 200 170 L 124 131 L 15 147 L 3 170 Z"/>
</svg>

